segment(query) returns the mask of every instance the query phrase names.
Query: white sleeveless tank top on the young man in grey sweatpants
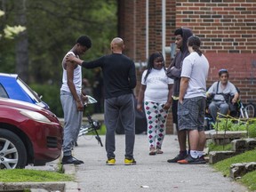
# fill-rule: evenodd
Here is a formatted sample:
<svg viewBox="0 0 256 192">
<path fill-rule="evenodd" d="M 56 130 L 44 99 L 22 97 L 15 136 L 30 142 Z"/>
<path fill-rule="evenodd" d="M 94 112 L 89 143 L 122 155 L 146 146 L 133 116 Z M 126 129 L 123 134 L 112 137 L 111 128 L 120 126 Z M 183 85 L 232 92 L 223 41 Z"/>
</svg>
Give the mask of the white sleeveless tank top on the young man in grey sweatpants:
<svg viewBox="0 0 256 192">
<path fill-rule="evenodd" d="M 60 91 L 65 91 L 65 92 L 70 92 L 67 84 L 68 83 L 67 70 L 64 68 L 64 63 L 66 62 L 66 57 L 68 54 L 73 54 L 74 56 L 76 56 L 74 52 L 68 52 L 62 60 L 63 75 L 62 75 L 62 85 L 61 85 Z M 80 65 L 77 65 L 77 67 L 74 69 L 73 83 L 75 84 L 77 94 L 80 95 L 82 90 L 82 67 Z"/>
</svg>

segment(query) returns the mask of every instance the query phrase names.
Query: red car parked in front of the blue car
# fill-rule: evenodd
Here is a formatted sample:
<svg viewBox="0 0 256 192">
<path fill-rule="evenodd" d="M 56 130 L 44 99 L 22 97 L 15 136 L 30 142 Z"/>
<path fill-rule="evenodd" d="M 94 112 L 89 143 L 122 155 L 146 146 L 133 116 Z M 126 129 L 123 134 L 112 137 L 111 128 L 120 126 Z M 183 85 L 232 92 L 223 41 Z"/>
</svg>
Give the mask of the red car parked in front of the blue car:
<svg viewBox="0 0 256 192">
<path fill-rule="evenodd" d="M 63 128 L 50 110 L 0 98 L 0 169 L 44 165 L 61 154 Z"/>
</svg>

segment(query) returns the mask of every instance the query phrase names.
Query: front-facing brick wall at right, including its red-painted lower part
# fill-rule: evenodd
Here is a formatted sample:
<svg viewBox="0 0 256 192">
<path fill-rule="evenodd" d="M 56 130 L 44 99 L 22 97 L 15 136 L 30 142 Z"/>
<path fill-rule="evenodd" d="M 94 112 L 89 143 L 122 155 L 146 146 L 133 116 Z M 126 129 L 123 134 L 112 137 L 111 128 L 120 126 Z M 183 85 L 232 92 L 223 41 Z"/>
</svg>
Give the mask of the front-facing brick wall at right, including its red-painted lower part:
<svg viewBox="0 0 256 192">
<path fill-rule="evenodd" d="M 178 3 L 179 2 L 179 3 Z M 230 81 L 241 90 L 244 103 L 256 103 L 256 1 L 180 0 L 176 26 L 192 28 L 203 42 L 210 62 L 209 81 L 227 68 Z"/>
</svg>

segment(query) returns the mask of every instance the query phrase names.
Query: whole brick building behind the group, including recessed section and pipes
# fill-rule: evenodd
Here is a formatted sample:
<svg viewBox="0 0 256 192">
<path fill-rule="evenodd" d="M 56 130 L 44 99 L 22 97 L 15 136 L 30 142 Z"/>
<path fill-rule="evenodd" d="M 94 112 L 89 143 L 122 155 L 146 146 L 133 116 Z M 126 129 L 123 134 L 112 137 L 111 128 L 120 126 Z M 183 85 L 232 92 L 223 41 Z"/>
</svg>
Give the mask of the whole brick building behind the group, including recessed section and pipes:
<svg viewBox="0 0 256 192">
<path fill-rule="evenodd" d="M 166 51 L 174 43 L 175 28 L 191 28 L 201 37 L 210 62 L 207 84 L 218 80 L 220 68 L 227 68 L 242 101 L 256 104 L 255 15 L 255 0 L 119 0 L 118 35 L 124 38 L 125 54 L 140 66 L 139 88 L 148 55 L 165 52 L 169 65 L 171 53 Z M 170 118 L 168 122 L 172 132 Z"/>
</svg>

